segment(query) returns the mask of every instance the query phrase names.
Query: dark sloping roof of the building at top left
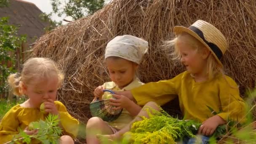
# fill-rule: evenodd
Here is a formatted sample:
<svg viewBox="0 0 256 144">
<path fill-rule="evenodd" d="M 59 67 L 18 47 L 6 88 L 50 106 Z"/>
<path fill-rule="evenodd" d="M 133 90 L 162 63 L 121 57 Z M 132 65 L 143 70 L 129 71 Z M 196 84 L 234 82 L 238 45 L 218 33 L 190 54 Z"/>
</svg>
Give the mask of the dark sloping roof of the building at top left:
<svg viewBox="0 0 256 144">
<path fill-rule="evenodd" d="M 0 8 L 0 17 L 9 17 L 9 23 L 20 26 L 18 35 L 27 35 L 29 44 L 41 37 L 49 24 L 40 19 L 43 13 L 34 3 L 9 0 L 8 7 Z"/>
</svg>

